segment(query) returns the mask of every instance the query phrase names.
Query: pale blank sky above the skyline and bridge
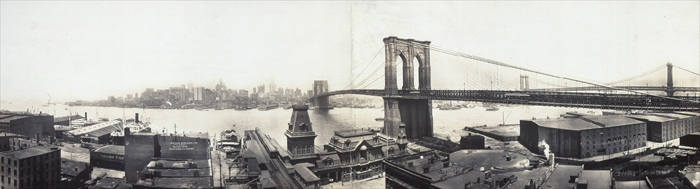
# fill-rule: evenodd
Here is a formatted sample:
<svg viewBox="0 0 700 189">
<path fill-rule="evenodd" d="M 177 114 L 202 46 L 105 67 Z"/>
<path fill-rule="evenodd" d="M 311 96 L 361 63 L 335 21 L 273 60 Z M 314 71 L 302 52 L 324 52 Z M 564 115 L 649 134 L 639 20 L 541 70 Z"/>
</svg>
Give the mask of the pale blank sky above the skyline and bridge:
<svg viewBox="0 0 700 189">
<path fill-rule="evenodd" d="M 337 90 L 383 69 L 387 36 L 596 82 L 667 62 L 700 72 L 699 4 L 0 1 L 0 100 L 98 100 L 219 80 L 249 90 L 328 80 Z M 490 73 L 459 61 L 431 54 L 433 85 Z"/>
</svg>

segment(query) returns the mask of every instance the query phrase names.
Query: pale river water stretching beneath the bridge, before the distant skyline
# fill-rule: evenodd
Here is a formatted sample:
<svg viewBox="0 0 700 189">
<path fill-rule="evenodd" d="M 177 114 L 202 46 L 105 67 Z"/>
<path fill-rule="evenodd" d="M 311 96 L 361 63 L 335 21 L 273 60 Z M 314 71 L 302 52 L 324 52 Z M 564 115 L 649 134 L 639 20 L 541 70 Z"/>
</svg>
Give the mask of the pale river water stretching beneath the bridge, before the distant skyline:
<svg viewBox="0 0 700 189">
<path fill-rule="evenodd" d="M 87 112 L 90 119 L 95 118 L 133 118 L 139 113 L 142 120 L 150 121 L 153 132 L 206 132 L 210 136 L 224 129 L 234 128 L 237 132 L 260 128 L 264 133 L 275 138 L 280 145 L 286 146 L 284 131 L 291 118 L 292 109 L 273 109 L 259 111 L 257 109 L 237 110 L 195 110 L 195 109 L 140 109 L 93 106 L 57 105 L 28 105 L 13 102 L 3 102 L 0 109 L 11 111 L 46 112 L 56 116 L 73 114 L 84 115 Z M 560 114 L 577 111 L 600 114 L 599 110 L 541 107 L 541 106 L 500 106 L 497 111 L 486 111 L 485 108 L 462 108 L 459 110 L 440 110 L 433 108 L 433 125 L 436 135 L 449 137 L 459 141 L 464 134 L 465 126 L 497 125 L 500 123 L 513 124 L 521 119 L 542 119 L 559 117 Z M 593 112 L 591 112 L 593 111 Z M 328 143 L 333 131 L 353 128 L 381 127 L 383 122 L 375 118 L 384 116 L 382 108 L 335 108 L 327 111 L 309 110 L 312 126 L 318 137 L 316 144 Z"/>
</svg>

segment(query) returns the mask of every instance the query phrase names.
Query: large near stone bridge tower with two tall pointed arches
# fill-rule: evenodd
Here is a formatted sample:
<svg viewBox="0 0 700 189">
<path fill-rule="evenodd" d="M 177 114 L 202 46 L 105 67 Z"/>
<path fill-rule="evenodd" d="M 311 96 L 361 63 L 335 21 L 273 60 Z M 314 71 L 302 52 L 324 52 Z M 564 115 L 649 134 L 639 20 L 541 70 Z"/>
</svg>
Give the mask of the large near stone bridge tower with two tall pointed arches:
<svg viewBox="0 0 700 189">
<path fill-rule="evenodd" d="M 400 93 L 430 90 L 430 41 L 384 38 L 384 129 L 386 135 L 397 137 L 405 124 L 409 139 L 433 136 L 432 102 L 427 99 L 400 98 Z M 413 60 L 418 60 L 414 62 Z M 401 60 L 398 62 L 398 60 Z M 397 64 L 402 63 L 403 86 L 397 86 Z M 418 65 L 418 90 L 414 86 L 413 69 Z"/>
</svg>

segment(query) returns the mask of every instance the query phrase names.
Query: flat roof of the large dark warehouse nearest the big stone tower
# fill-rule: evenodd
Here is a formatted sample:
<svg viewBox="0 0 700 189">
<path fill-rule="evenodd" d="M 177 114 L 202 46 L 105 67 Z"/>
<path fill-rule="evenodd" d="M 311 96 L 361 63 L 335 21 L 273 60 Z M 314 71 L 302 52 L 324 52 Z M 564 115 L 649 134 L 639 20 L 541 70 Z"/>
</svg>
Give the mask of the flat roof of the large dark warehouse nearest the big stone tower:
<svg viewBox="0 0 700 189">
<path fill-rule="evenodd" d="M 536 120 L 521 120 L 533 122 L 541 127 L 565 130 L 588 130 L 608 127 L 618 127 L 624 125 L 643 124 L 644 122 L 628 118 L 621 115 L 604 115 L 604 116 L 581 116 L 575 118 L 555 118 L 555 119 L 536 119 Z"/>
</svg>

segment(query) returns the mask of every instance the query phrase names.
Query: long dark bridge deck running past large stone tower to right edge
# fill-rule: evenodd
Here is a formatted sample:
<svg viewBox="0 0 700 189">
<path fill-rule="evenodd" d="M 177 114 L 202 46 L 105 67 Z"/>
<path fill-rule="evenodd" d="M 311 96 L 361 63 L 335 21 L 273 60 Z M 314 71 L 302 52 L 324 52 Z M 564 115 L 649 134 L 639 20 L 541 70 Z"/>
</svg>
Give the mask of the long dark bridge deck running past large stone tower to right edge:
<svg viewBox="0 0 700 189">
<path fill-rule="evenodd" d="M 595 109 L 661 111 L 700 110 L 700 102 L 698 102 L 698 97 L 674 97 L 688 100 L 679 101 L 649 95 L 532 90 L 398 90 L 396 94 L 387 94 L 387 92 L 383 89 L 351 89 L 331 91 L 312 97 L 312 99 L 342 94 L 358 94 L 403 99 L 457 100 Z"/>
</svg>

